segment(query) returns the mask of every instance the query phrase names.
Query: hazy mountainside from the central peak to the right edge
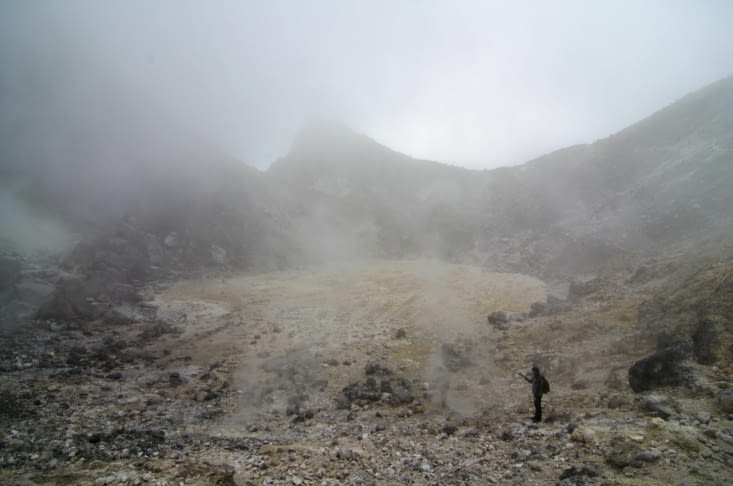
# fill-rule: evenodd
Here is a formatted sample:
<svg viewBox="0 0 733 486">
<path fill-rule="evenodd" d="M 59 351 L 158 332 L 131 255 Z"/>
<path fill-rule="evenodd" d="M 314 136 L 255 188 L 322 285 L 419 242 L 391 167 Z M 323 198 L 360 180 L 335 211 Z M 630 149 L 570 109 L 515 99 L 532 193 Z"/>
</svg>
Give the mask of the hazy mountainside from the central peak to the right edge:
<svg viewBox="0 0 733 486">
<path fill-rule="evenodd" d="M 314 125 L 267 177 L 301 225 L 357 234 L 345 242 L 355 252 L 548 276 L 613 270 L 731 237 L 732 99 L 727 78 L 606 139 L 492 171 L 416 161 Z"/>
</svg>

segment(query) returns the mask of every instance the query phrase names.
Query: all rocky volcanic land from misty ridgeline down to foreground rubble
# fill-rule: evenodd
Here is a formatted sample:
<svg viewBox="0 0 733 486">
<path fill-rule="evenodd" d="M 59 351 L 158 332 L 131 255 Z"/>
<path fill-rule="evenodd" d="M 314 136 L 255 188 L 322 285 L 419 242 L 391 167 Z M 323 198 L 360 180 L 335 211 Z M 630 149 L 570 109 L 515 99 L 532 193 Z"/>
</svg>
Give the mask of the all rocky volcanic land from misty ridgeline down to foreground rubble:
<svg viewBox="0 0 733 486">
<path fill-rule="evenodd" d="M 731 100 L 482 172 L 323 125 L 266 173 L 20 140 L 14 194 L 80 242 L 0 258 L 0 481 L 727 484 Z"/>
</svg>

